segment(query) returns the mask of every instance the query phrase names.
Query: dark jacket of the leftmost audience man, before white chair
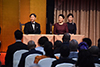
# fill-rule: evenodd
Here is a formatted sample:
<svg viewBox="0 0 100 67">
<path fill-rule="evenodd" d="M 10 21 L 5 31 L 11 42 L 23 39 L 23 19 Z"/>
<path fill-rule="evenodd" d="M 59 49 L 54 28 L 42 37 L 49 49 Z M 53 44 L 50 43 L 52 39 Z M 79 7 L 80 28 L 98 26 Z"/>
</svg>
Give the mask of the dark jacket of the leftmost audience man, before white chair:
<svg viewBox="0 0 100 67">
<path fill-rule="evenodd" d="M 10 46 L 8 46 L 8 50 L 5 57 L 5 65 L 6 67 L 13 67 L 13 54 L 17 50 L 21 49 L 28 49 L 27 45 L 23 44 L 22 42 L 16 42 Z"/>
</svg>

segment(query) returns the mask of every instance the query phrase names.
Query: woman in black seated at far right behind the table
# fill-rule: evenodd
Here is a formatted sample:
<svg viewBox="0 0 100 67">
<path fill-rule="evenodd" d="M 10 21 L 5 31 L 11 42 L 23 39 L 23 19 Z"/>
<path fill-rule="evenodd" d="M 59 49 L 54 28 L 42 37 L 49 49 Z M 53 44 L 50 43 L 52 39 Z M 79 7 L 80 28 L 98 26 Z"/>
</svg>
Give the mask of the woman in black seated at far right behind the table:
<svg viewBox="0 0 100 67">
<path fill-rule="evenodd" d="M 67 25 L 68 25 L 68 32 L 70 34 L 76 34 L 76 24 L 73 22 L 73 14 L 68 14 L 67 15 L 67 18 L 68 18 L 68 22 L 67 22 Z"/>
</svg>

